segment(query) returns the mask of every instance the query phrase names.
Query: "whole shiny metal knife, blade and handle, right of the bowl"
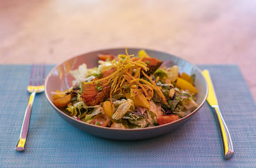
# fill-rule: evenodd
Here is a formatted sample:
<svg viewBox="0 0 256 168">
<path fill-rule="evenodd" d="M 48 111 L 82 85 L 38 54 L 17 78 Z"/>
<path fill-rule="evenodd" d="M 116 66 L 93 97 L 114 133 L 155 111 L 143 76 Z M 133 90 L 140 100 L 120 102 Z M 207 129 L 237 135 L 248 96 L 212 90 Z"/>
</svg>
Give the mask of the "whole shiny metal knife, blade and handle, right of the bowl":
<svg viewBox="0 0 256 168">
<path fill-rule="evenodd" d="M 217 101 L 217 98 L 216 98 L 216 95 L 214 92 L 210 74 L 209 74 L 208 70 L 204 70 L 203 74 L 204 74 L 204 77 L 207 81 L 208 88 L 209 88 L 207 102 L 209 103 L 209 105 L 211 105 L 213 111 L 216 114 L 216 118 L 218 120 L 222 143 L 223 143 L 223 149 L 224 149 L 224 158 L 229 159 L 229 158 L 232 158 L 234 155 L 232 140 L 231 140 L 230 134 L 228 132 L 227 125 L 221 115 L 220 107 L 218 105 L 218 101 Z"/>
</svg>

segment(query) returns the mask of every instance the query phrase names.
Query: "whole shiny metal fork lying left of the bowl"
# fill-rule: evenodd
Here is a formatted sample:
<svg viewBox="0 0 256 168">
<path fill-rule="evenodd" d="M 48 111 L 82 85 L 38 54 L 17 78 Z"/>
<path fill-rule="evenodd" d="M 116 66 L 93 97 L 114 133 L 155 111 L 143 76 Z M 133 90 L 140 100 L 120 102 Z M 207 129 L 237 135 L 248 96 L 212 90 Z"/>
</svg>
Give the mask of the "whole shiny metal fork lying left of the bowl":
<svg viewBox="0 0 256 168">
<path fill-rule="evenodd" d="M 25 111 L 23 123 L 20 130 L 19 141 L 15 147 L 15 151 L 24 151 L 26 143 L 29 121 L 31 116 L 31 109 L 33 106 L 34 98 L 36 93 L 44 92 L 44 80 L 45 80 L 45 64 L 33 64 L 31 66 L 31 74 L 29 79 L 28 92 L 31 93 L 29 96 L 28 105 Z"/>
</svg>

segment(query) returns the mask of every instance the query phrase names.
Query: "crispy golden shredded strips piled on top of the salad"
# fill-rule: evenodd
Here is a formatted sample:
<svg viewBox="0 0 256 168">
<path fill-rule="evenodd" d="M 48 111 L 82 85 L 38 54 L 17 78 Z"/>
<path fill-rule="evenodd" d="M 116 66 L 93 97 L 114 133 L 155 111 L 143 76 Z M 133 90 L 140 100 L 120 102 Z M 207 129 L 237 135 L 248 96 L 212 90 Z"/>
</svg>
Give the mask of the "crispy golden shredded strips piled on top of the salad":
<svg viewBox="0 0 256 168">
<path fill-rule="evenodd" d="M 156 83 L 148 77 L 148 75 L 145 73 L 148 71 L 147 63 L 143 63 L 141 61 L 141 58 L 138 59 L 137 61 L 132 61 L 132 55 L 129 55 L 127 52 L 127 49 L 125 49 L 124 54 L 119 54 L 118 55 L 118 64 L 117 64 L 117 70 L 113 74 L 109 75 L 108 77 L 105 77 L 103 79 L 98 79 L 92 82 L 84 82 L 84 84 L 92 84 L 92 83 L 99 83 L 102 82 L 103 80 L 108 80 L 108 83 L 111 83 L 111 89 L 110 89 L 110 101 L 113 103 L 113 94 L 116 93 L 116 91 L 120 91 L 121 93 L 124 91 L 123 89 L 141 89 L 145 96 L 148 96 L 148 91 L 156 91 L 157 95 L 163 100 L 164 104 L 167 104 L 166 98 L 164 97 L 161 89 L 156 86 Z M 141 68 L 143 68 L 144 71 L 141 71 Z M 150 81 L 148 82 L 147 80 L 141 79 L 140 78 L 140 73 L 143 73 L 145 77 Z M 159 79 L 159 78 L 158 78 Z M 157 79 L 157 80 L 158 80 Z M 156 80 L 156 82 L 157 82 Z M 98 91 L 99 88 L 96 86 Z M 138 93 L 140 93 L 139 91 Z M 134 94 L 134 95 L 138 95 Z M 133 95 L 131 93 L 131 95 Z M 151 94 L 152 95 L 152 94 Z"/>
</svg>

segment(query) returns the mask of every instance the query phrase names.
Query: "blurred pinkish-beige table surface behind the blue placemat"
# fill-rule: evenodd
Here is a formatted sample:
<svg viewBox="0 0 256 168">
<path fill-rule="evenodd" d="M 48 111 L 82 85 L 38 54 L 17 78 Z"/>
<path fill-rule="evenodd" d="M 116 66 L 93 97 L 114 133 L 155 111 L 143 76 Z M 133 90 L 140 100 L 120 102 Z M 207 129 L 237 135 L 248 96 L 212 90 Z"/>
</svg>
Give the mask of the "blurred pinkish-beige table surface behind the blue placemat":
<svg viewBox="0 0 256 168">
<path fill-rule="evenodd" d="M 256 100 L 256 1 L 0 3 L 0 63 L 56 64 L 109 47 L 162 50 L 194 64 L 237 64 Z"/>
</svg>

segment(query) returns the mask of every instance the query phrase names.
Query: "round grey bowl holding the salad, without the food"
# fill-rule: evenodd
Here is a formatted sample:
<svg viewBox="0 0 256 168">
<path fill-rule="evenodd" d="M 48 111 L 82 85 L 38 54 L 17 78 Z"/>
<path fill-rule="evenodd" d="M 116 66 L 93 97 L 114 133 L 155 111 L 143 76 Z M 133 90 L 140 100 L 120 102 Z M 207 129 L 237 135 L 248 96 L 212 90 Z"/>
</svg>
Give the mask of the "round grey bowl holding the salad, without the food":
<svg viewBox="0 0 256 168">
<path fill-rule="evenodd" d="M 128 49 L 129 53 L 138 53 L 140 49 Z M 149 128 L 137 128 L 137 129 L 115 129 L 115 128 L 106 128 L 102 126 L 90 125 L 88 123 L 83 123 L 82 121 L 78 121 L 74 119 L 65 112 L 62 112 L 58 109 L 53 103 L 51 98 L 51 92 L 56 91 L 57 89 L 65 90 L 71 86 L 71 81 L 73 78 L 68 73 L 70 70 L 74 70 L 78 68 L 82 63 L 86 63 L 89 68 L 93 68 L 97 66 L 97 54 L 99 53 L 109 53 L 109 54 L 124 54 L 125 49 L 106 49 L 106 50 L 97 50 L 94 52 L 88 52 L 81 56 L 72 57 L 67 61 L 61 63 L 60 65 L 54 67 L 49 75 L 47 75 L 47 79 L 45 80 L 45 96 L 48 102 L 54 107 L 56 112 L 61 116 L 61 118 L 65 119 L 68 123 L 79 128 L 85 132 L 88 132 L 92 135 L 97 135 L 99 137 L 104 137 L 108 139 L 121 139 L 121 140 L 134 140 L 134 139 L 145 139 L 149 137 L 155 137 L 157 135 L 166 134 L 177 128 L 180 125 L 183 125 L 195 116 L 194 114 L 198 111 L 202 105 L 205 103 L 207 98 L 208 88 L 207 83 L 202 75 L 202 72 L 196 66 L 192 65 L 188 61 L 181 59 L 179 57 L 172 56 L 170 54 L 166 54 L 164 52 L 159 52 L 156 50 L 148 50 L 145 49 L 148 54 L 152 57 L 157 57 L 163 61 L 171 60 L 175 65 L 180 67 L 180 72 L 186 72 L 188 74 L 196 74 L 195 85 L 198 89 L 198 95 L 196 95 L 197 103 L 199 104 L 198 108 L 195 111 L 191 112 L 188 116 L 181 118 L 172 123 L 168 123 L 166 125 L 154 126 Z"/>
</svg>

